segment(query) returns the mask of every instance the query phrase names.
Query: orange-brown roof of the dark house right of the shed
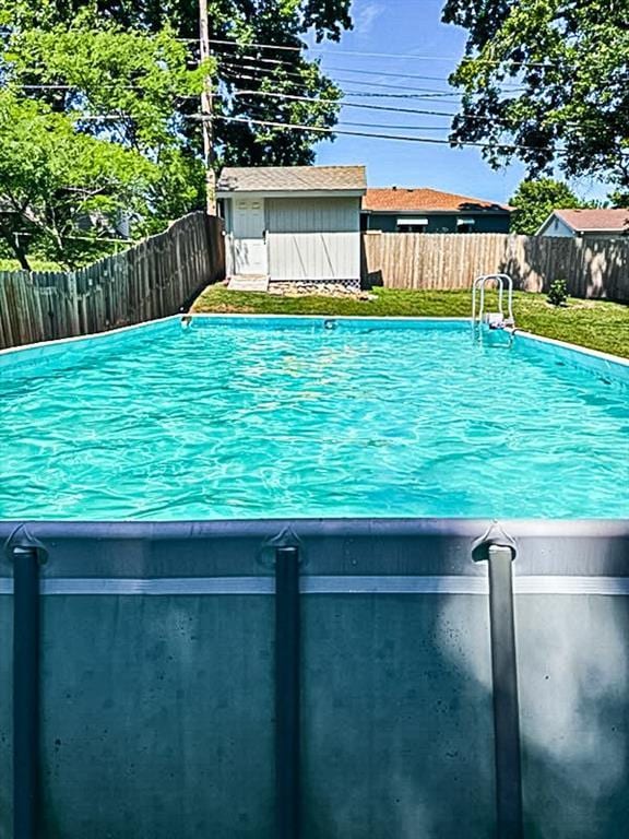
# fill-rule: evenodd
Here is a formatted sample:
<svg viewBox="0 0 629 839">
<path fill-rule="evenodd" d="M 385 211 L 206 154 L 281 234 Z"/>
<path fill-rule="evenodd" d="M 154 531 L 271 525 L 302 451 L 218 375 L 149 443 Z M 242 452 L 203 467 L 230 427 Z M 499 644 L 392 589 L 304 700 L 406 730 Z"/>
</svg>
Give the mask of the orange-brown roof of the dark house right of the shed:
<svg viewBox="0 0 629 839">
<path fill-rule="evenodd" d="M 480 198 L 459 196 L 454 192 L 442 192 L 427 187 L 387 187 L 385 189 L 368 189 L 363 199 L 363 210 L 370 212 L 510 212 L 507 204 L 485 201 Z"/>
</svg>

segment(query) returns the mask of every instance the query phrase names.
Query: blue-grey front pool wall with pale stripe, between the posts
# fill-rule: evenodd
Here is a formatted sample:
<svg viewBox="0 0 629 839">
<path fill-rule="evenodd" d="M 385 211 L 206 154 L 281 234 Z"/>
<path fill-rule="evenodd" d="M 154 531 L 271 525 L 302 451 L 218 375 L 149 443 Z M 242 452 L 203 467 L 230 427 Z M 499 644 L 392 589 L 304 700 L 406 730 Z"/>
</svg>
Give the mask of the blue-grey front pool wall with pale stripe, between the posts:
<svg viewBox="0 0 629 839">
<path fill-rule="evenodd" d="M 274 546 L 288 527 L 301 621 L 293 839 L 496 836 L 487 567 L 472 560 L 487 525 L 28 524 L 46 554 L 41 835 L 282 835 L 276 814 L 295 802 L 275 778 Z M 629 522 L 502 527 L 518 548 L 524 835 L 618 837 Z M 0 523 L 0 540 L 14 531 Z M 0 559 L 0 837 L 12 831 L 14 562 Z"/>
</svg>

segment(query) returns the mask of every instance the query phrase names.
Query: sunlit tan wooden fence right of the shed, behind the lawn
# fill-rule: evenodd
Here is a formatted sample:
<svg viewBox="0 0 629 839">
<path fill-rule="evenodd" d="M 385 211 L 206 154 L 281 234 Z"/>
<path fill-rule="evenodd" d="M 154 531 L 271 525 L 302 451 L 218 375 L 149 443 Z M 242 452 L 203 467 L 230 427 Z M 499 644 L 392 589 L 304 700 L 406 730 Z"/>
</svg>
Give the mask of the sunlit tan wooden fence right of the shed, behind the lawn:
<svg viewBox="0 0 629 839">
<path fill-rule="evenodd" d="M 545 292 L 566 280 L 574 297 L 629 302 L 629 237 L 586 240 L 499 233 L 366 233 L 363 279 L 388 288 L 470 288 L 506 272 L 517 287 Z"/>
</svg>

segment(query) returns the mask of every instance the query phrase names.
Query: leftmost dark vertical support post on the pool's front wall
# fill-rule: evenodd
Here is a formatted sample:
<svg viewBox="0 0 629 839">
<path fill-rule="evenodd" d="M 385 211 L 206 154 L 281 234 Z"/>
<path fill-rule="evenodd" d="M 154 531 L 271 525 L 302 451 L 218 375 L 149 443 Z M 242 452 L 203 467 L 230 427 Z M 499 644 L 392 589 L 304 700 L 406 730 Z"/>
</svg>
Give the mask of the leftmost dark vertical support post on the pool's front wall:
<svg viewBox="0 0 629 839">
<path fill-rule="evenodd" d="M 13 559 L 13 836 L 37 839 L 39 805 L 39 564 L 37 542 L 8 545 Z M 31 543 L 29 543 L 31 542 Z"/>
</svg>

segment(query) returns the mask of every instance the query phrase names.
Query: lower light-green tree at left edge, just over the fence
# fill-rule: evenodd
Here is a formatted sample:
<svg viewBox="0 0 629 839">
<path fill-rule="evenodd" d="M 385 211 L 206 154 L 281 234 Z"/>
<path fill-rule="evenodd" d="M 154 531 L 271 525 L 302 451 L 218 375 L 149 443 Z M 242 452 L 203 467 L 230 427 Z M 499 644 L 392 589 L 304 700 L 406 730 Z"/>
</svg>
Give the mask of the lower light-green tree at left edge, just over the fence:
<svg viewBox="0 0 629 839">
<path fill-rule="evenodd" d="M 76 130 L 44 103 L 0 93 L 0 235 L 28 270 L 35 240 L 71 268 L 111 236 L 121 212 L 146 212 L 159 169 L 133 149 Z M 84 231 L 82 222 L 93 218 Z"/>
</svg>

